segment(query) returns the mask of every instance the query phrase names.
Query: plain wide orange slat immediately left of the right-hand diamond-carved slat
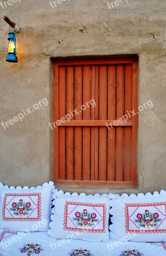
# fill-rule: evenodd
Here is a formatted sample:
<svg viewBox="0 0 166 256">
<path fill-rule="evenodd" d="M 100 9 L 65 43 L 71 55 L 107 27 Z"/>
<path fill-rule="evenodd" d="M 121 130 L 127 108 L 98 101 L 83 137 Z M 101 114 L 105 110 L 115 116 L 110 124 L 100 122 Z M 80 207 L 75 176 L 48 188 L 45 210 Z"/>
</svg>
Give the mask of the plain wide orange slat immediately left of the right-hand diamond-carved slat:
<svg viewBox="0 0 166 256">
<path fill-rule="evenodd" d="M 107 119 L 107 66 L 100 66 L 99 73 L 99 119 Z M 99 128 L 99 180 L 106 180 L 107 128 Z"/>
</svg>

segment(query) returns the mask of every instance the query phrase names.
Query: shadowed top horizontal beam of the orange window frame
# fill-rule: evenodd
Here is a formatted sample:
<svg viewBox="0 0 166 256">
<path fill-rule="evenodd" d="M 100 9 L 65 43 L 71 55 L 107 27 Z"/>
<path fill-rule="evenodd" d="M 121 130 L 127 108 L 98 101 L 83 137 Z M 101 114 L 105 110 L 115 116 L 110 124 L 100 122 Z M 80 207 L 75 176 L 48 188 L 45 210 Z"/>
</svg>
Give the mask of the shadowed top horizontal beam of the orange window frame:
<svg viewBox="0 0 166 256">
<path fill-rule="evenodd" d="M 53 65 L 101 65 L 101 64 L 128 64 L 137 63 L 138 58 L 84 58 L 84 59 L 58 59 Z"/>
</svg>

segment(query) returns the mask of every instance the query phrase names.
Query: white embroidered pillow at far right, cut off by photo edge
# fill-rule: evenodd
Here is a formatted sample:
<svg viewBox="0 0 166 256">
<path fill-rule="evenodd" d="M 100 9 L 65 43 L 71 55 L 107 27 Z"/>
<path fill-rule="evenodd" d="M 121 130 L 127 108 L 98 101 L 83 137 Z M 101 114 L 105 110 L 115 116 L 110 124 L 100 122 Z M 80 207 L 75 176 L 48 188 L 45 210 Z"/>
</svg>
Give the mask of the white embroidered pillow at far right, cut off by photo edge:
<svg viewBox="0 0 166 256">
<path fill-rule="evenodd" d="M 166 191 L 132 194 L 109 194 L 110 239 L 128 236 L 129 241 L 166 241 Z"/>
</svg>

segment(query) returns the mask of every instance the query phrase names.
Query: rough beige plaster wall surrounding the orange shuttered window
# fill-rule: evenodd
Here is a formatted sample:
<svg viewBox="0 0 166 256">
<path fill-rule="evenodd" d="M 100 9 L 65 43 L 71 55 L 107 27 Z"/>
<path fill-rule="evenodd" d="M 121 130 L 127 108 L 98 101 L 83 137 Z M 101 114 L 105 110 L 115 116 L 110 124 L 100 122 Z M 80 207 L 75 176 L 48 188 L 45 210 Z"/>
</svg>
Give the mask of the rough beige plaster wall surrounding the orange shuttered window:
<svg viewBox="0 0 166 256">
<path fill-rule="evenodd" d="M 37 186 L 52 179 L 51 57 L 138 54 L 138 105 L 148 100 L 154 105 L 139 114 L 138 186 L 70 191 L 166 189 L 166 1 L 125 0 L 112 9 L 107 0 L 68 0 L 54 9 L 49 0 L 18 0 L 6 6 L 0 6 L 0 123 L 44 98 L 49 104 L 9 128 L 0 125 L 0 181 Z M 21 27 L 17 64 L 5 61 L 5 15 Z"/>
</svg>

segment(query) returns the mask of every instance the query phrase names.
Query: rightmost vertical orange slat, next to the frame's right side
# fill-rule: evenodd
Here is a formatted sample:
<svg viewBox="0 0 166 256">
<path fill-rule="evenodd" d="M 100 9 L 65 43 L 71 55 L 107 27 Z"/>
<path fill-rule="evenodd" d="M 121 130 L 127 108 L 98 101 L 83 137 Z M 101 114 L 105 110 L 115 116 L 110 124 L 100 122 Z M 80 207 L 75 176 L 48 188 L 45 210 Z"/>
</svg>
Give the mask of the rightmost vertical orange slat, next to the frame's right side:
<svg viewBox="0 0 166 256">
<path fill-rule="evenodd" d="M 132 120 L 132 65 L 125 65 L 125 111 Z M 124 181 L 131 181 L 132 174 L 132 127 L 124 127 Z"/>
</svg>

